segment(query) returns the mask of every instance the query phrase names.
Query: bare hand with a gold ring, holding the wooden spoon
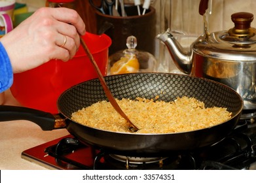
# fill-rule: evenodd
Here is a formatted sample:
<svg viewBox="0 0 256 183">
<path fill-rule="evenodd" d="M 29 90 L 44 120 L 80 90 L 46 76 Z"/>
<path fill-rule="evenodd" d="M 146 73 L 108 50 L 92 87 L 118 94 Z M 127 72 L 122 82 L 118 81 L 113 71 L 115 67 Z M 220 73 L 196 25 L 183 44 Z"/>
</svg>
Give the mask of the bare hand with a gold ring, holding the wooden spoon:
<svg viewBox="0 0 256 183">
<path fill-rule="evenodd" d="M 40 8 L 1 38 L 13 73 L 20 73 L 50 59 L 67 61 L 77 52 L 85 25 L 75 10 Z"/>
</svg>

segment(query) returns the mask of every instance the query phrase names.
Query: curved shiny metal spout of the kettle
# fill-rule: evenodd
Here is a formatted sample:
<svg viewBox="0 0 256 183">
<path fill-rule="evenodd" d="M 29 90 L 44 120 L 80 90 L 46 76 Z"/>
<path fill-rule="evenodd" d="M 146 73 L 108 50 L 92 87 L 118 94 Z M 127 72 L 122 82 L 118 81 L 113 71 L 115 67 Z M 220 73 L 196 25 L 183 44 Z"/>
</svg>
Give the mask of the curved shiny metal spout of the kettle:
<svg viewBox="0 0 256 183">
<path fill-rule="evenodd" d="M 165 33 L 156 35 L 156 38 L 164 42 L 177 68 L 187 75 L 191 74 L 192 49 L 190 48 L 188 52 L 185 52 L 181 44 L 172 35 L 170 29 L 167 29 Z"/>
</svg>

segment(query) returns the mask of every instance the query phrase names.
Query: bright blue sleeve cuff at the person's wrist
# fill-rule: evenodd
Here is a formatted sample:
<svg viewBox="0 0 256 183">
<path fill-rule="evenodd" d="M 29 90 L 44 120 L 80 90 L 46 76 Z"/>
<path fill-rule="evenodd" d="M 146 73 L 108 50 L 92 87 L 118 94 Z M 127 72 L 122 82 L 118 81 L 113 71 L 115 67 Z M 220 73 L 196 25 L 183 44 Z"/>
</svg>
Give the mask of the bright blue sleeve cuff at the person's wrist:
<svg viewBox="0 0 256 183">
<path fill-rule="evenodd" d="M 12 65 L 10 65 L 9 56 L 0 42 L 0 93 L 12 86 L 13 73 Z"/>
</svg>

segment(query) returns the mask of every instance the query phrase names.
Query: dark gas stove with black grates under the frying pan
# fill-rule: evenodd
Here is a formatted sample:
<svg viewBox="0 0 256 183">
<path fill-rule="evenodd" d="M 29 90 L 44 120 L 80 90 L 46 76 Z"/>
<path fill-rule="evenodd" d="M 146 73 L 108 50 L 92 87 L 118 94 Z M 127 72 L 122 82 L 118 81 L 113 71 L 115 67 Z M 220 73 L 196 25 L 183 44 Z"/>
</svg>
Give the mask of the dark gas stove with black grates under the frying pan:
<svg viewBox="0 0 256 183">
<path fill-rule="evenodd" d="M 22 158 L 48 169 L 256 169 L 256 122 L 240 120 L 236 129 L 212 146 L 175 156 L 143 158 L 109 154 L 72 135 L 22 152 Z"/>
</svg>

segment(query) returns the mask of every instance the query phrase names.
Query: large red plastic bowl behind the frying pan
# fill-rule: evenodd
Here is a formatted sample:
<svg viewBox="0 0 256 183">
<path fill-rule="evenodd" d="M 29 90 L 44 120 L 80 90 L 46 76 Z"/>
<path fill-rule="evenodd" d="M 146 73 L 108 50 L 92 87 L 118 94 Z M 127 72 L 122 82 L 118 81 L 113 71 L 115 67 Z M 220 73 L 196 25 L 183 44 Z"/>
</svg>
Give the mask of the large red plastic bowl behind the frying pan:
<svg viewBox="0 0 256 183">
<path fill-rule="evenodd" d="M 82 38 L 105 76 L 111 39 L 107 35 L 92 33 L 86 33 Z M 58 113 L 57 100 L 62 92 L 97 77 L 92 63 L 80 46 L 75 57 L 67 62 L 54 59 L 35 69 L 14 74 L 10 91 L 24 107 Z"/>
</svg>

